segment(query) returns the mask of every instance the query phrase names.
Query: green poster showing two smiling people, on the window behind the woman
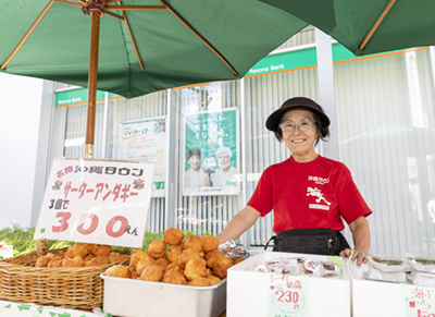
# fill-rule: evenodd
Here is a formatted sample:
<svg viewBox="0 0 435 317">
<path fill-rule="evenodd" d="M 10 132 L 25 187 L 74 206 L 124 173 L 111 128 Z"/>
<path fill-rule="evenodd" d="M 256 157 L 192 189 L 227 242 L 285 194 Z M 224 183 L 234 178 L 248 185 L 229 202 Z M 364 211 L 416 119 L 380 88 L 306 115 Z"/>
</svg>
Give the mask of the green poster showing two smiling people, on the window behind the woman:
<svg viewBox="0 0 435 317">
<path fill-rule="evenodd" d="M 238 109 L 186 113 L 183 195 L 238 195 Z"/>
</svg>

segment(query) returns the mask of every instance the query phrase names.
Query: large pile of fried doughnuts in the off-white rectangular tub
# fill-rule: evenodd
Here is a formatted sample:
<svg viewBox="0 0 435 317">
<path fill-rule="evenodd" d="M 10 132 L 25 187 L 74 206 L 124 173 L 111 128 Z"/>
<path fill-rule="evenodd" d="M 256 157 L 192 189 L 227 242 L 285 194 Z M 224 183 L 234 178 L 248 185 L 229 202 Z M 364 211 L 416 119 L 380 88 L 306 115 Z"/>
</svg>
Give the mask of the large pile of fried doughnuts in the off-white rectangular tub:
<svg viewBox="0 0 435 317">
<path fill-rule="evenodd" d="M 236 263 L 219 249 L 219 241 L 212 235 L 188 235 L 178 228 L 170 228 L 163 241 L 154 240 L 148 251 L 139 249 L 129 266 L 116 265 L 104 275 L 144 281 L 192 286 L 214 285 L 226 278 L 226 271 Z"/>
</svg>

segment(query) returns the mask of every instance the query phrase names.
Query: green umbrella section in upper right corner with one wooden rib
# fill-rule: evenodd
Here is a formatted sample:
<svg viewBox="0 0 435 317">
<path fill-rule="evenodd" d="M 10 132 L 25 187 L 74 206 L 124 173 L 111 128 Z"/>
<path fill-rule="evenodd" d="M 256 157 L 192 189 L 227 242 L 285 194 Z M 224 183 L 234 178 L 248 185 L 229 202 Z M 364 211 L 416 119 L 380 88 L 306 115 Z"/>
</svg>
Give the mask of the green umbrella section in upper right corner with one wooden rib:
<svg viewBox="0 0 435 317">
<path fill-rule="evenodd" d="M 356 56 L 435 45 L 433 0 L 262 1 L 322 29 Z"/>
</svg>

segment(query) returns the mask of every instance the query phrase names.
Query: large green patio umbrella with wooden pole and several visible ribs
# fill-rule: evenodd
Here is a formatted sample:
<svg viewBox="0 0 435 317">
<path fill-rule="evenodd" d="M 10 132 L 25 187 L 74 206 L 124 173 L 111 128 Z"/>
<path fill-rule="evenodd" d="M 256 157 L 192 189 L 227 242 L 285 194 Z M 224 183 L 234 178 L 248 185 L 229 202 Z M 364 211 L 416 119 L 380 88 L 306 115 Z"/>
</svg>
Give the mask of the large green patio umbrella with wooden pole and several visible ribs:
<svg viewBox="0 0 435 317">
<path fill-rule="evenodd" d="M 240 78 L 307 25 L 257 0 L 2 1 L 0 71 L 87 86 L 92 157 L 97 88 L 133 98 Z"/>
</svg>

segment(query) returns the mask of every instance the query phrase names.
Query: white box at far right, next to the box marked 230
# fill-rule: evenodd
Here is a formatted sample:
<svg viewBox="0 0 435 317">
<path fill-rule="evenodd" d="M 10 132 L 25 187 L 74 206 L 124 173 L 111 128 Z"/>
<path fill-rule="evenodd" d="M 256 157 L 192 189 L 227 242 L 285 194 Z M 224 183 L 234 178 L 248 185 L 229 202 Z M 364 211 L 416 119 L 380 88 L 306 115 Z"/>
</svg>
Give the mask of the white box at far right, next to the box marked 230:
<svg viewBox="0 0 435 317">
<path fill-rule="evenodd" d="M 369 264 L 348 266 L 352 294 L 352 317 L 408 317 L 400 283 L 365 279 Z"/>
</svg>

